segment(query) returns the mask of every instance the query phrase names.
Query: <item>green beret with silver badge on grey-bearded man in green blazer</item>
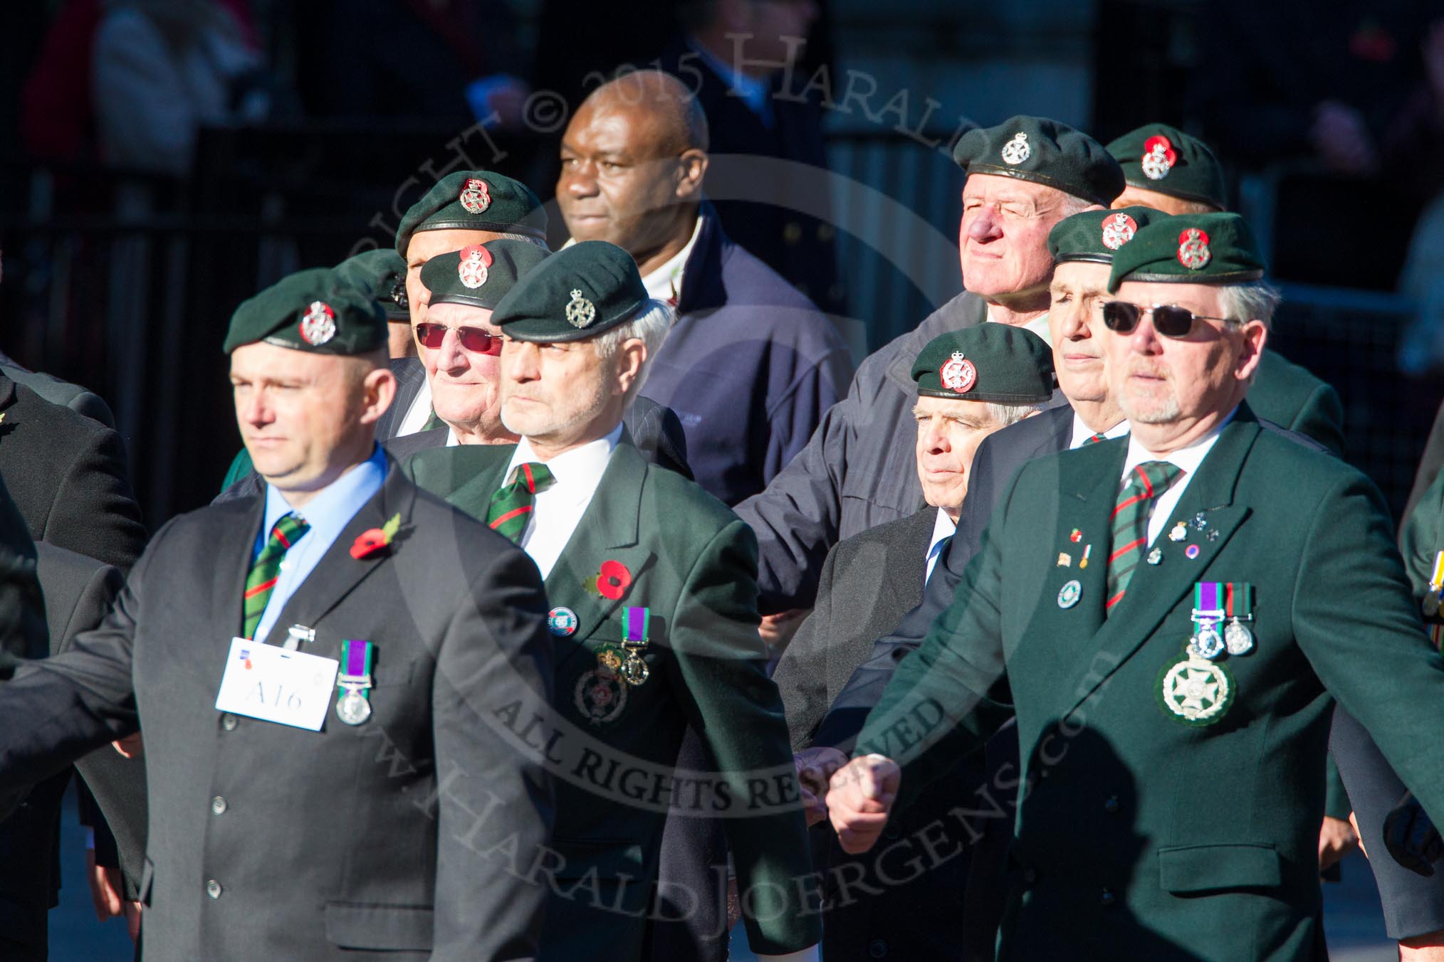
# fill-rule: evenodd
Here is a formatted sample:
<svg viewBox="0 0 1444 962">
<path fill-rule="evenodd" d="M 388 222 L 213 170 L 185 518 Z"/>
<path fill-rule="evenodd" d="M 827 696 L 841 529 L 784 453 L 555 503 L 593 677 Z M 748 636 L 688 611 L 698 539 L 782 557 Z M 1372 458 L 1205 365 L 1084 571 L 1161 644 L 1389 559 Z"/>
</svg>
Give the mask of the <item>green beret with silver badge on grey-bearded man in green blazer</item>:
<svg viewBox="0 0 1444 962">
<path fill-rule="evenodd" d="M 582 340 L 627 323 L 645 301 L 631 254 L 606 241 L 582 241 L 523 277 L 491 323 L 517 340 Z"/>
</svg>

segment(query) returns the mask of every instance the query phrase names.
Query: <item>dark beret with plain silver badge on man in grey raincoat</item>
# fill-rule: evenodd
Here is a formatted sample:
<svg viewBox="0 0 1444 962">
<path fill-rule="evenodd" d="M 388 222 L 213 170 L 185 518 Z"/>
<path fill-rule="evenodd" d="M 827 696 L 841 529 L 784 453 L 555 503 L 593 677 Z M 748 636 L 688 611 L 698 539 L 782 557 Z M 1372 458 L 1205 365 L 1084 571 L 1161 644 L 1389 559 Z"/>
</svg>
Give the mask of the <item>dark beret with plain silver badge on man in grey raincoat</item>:
<svg viewBox="0 0 1444 962">
<path fill-rule="evenodd" d="M 1105 208 L 1123 192 L 1123 172 L 1103 144 L 1045 117 L 969 130 L 957 138 L 953 160 L 967 173 L 1032 180 Z"/>
</svg>

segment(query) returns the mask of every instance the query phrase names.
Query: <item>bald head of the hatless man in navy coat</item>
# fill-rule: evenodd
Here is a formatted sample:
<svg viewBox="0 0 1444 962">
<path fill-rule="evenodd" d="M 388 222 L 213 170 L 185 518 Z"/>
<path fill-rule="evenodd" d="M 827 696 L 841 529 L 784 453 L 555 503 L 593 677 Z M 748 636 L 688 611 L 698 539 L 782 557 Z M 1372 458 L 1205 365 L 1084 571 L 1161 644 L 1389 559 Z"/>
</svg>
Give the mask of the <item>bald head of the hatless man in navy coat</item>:
<svg viewBox="0 0 1444 962">
<path fill-rule="evenodd" d="M 562 136 L 567 231 L 617 244 L 648 274 L 692 238 L 706 147 L 706 115 L 676 76 L 637 71 L 596 88 Z"/>
</svg>

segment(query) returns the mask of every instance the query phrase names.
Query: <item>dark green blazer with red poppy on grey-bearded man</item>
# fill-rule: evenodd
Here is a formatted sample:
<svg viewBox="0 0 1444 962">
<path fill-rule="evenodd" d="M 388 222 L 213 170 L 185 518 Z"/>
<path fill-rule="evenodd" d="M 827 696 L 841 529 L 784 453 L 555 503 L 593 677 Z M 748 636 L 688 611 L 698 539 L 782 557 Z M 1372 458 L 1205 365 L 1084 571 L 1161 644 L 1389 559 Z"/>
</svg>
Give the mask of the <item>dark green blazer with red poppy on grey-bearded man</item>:
<svg viewBox="0 0 1444 962">
<path fill-rule="evenodd" d="M 651 779 L 656 772 L 670 775 L 689 723 L 718 763 L 721 776 L 712 777 L 726 786 L 700 793 L 679 786 L 674 803 L 722 816 L 739 888 L 757 897 L 755 917 L 747 919 L 752 949 L 804 949 L 820 939 L 817 906 L 803 894 L 816 887 L 797 881 L 809 875 L 812 861 L 783 702 L 757 635 L 757 539 L 722 502 L 647 463 L 622 438 L 546 578 L 553 612 L 569 609 L 578 623 L 572 635 L 556 637 L 560 727 L 565 738 L 580 733 L 595 744 L 592 756 L 583 753 L 569 767 L 570 777 L 557 779 L 553 841 L 566 860 L 553 893 L 582 886 L 586 897 L 553 894 L 542 958 L 638 958 L 645 923 L 640 913 L 657 877 L 667 813 L 666 792 Z M 485 518 L 513 450 L 433 449 L 413 456 L 409 470 L 419 486 Z M 618 600 L 585 587 L 605 561 L 631 573 Z M 625 606 L 651 610 L 650 676 L 640 687 L 609 685 L 612 701 L 598 708 L 591 694 L 599 681 L 598 655 L 621 642 Z"/>
</svg>

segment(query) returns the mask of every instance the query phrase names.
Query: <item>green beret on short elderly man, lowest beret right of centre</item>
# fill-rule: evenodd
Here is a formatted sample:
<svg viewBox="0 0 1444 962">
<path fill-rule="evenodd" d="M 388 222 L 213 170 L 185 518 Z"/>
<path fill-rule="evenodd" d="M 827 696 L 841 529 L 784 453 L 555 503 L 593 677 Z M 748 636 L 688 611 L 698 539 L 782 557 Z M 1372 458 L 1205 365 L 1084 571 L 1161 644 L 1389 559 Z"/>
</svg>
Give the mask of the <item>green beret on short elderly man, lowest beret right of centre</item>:
<svg viewBox="0 0 1444 962">
<path fill-rule="evenodd" d="M 1043 404 L 1053 397 L 1053 349 L 1025 327 L 985 322 L 927 342 L 913 379 L 924 398 Z"/>
</svg>

